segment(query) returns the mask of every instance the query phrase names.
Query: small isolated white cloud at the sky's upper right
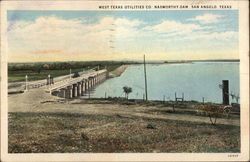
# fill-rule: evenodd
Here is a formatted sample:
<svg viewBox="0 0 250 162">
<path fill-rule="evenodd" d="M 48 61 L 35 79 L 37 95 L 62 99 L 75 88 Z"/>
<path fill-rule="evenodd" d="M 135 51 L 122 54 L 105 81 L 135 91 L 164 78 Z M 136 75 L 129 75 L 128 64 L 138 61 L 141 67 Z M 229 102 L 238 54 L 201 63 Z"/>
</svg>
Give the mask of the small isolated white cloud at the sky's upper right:
<svg viewBox="0 0 250 162">
<path fill-rule="evenodd" d="M 219 22 L 222 17 L 222 15 L 206 13 L 204 15 L 188 19 L 188 21 L 198 21 L 201 24 L 211 24 Z"/>
</svg>

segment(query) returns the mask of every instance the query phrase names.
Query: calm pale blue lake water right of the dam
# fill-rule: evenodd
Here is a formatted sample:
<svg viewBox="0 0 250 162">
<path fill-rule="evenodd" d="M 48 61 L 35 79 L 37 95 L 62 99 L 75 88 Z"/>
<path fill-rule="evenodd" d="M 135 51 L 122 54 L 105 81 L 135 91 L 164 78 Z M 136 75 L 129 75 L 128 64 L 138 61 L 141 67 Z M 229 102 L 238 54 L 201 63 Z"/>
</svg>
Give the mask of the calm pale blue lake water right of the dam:
<svg viewBox="0 0 250 162">
<path fill-rule="evenodd" d="M 229 92 L 239 94 L 239 63 L 206 62 L 187 64 L 147 65 L 148 99 L 174 100 L 184 93 L 185 100 L 222 103 L 219 84 L 229 80 Z M 142 99 L 144 91 L 143 65 L 131 65 L 116 78 L 98 85 L 93 97 L 124 97 L 123 87 L 132 88 L 130 99 Z M 230 97 L 230 102 L 235 102 Z"/>
</svg>

